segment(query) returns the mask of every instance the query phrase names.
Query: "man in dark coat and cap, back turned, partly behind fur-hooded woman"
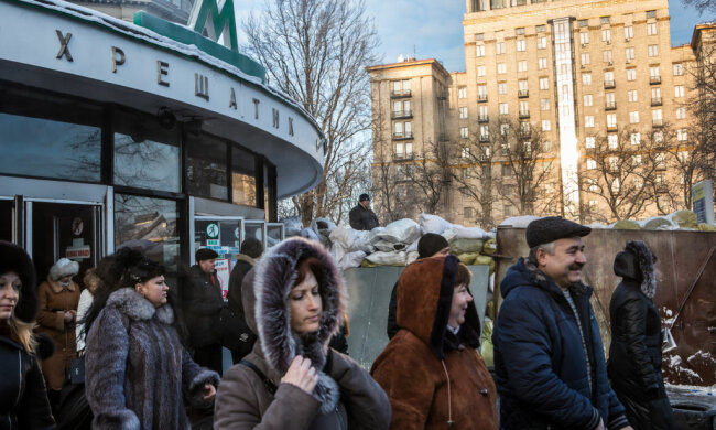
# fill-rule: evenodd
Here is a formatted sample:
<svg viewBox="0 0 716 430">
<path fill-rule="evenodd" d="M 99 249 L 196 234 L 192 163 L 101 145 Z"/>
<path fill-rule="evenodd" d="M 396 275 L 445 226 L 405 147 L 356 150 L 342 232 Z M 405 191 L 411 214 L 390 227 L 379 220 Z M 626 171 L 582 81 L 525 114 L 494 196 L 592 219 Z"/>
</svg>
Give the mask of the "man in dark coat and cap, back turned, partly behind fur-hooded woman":
<svg viewBox="0 0 716 430">
<path fill-rule="evenodd" d="M 241 243 L 240 252 L 229 278 L 229 293 L 227 294 L 229 307 L 221 312 L 221 323 L 225 324 L 224 320 L 230 323 L 230 326 L 224 327 L 227 332 L 225 337 L 228 338 L 223 344 L 231 351 L 234 364 L 239 363 L 245 355 L 250 353 L 253 342 L 256 342 L 256 334 L 247 325 L 243 315 L 241 283 L 246 273 L 253 268 L 256 260 L 263 254 L 263 244 L 259 239 L 249 237 Z"/>
</svg>

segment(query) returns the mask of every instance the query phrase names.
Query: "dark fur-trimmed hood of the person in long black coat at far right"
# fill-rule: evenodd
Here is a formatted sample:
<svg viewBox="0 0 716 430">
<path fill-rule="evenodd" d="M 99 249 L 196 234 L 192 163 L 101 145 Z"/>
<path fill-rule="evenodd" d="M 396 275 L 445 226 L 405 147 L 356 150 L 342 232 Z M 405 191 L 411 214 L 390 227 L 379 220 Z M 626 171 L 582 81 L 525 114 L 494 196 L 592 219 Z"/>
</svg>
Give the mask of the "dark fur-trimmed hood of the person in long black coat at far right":
<svg viewBox="0 0 716 430">
<path fill-rule="evenodd" d="M 657 293 L 654 257 L 642 240 L 628 241 L 625 250 L 617 254 L 614 272 L 618 277 L 637 282 L 641 292 L 649 299 L 653 299 Z"/>
</svg>

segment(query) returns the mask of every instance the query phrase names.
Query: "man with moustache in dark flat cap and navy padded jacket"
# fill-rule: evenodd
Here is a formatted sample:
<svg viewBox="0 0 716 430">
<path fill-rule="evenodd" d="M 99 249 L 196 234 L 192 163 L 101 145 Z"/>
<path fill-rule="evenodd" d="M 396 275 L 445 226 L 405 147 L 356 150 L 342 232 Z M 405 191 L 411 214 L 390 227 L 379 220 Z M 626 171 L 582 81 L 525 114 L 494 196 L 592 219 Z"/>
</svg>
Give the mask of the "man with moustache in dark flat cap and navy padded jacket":
<svg viewBox="0 0 716 430">
<path fill-rule="evenodd" d="M 631 429 L 581 279 L 590 232 L 557 216 L 533 221 L 529 257 L 500 282 L 492 343 L 501 429 Z"/>
</svg>

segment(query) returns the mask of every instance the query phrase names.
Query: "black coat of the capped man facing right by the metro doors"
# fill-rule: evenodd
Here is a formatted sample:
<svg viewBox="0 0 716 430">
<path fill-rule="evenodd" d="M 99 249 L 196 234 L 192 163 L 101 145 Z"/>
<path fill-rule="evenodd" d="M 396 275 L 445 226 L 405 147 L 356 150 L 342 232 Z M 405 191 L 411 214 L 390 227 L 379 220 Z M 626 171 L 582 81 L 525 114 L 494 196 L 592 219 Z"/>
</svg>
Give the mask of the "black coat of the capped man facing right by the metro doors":
<svg viewBox="0 0 716 430">
<path fill-rule="evenodd" d="M 219 343 L 217 330 L 219 312 L 225 305 L 220 287 L 211 284 L 210 276 L 198 265 L 192 266 L 183 298 L 184 316 L 192 347 Z"/>
</svg>

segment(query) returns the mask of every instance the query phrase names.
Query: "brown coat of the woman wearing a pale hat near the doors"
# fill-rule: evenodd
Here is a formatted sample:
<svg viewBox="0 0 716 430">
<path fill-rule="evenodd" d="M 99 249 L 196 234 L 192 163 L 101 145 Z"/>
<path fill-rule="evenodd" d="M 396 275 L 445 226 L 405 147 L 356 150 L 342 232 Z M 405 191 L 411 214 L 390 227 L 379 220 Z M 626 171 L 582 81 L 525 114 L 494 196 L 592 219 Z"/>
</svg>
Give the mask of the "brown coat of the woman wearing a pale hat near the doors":
<svg viewBox="0 0 716 430">
<path fill-rule="evenodd" d="M 69 364 L 77 357 L 75 323 L 79 303 L 79 286 L 69 281 L 62 288 L 57 281 L 47 278 L 37 287 L 40 312 L 35 333 L 45 333 L 55 344 L 55 353 L 42 361 L 42 373 L 47 381 L 47 389 L 61 390 Z M 65 312 L 72 312 L 73 321 L 65 322 Z"/>
</svg>

